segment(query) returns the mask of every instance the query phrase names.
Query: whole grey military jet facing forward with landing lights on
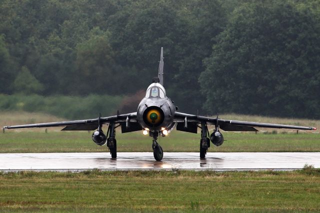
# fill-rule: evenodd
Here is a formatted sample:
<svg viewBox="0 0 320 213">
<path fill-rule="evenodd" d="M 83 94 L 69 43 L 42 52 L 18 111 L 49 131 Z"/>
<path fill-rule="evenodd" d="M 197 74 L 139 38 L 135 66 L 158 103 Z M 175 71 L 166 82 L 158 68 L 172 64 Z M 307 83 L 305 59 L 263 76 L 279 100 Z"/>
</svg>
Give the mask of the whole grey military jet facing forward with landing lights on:
<svg viewBox="0 0 320 213">
<path fill-rule="evenodd" d="M 102 125 L 108 124 L 106 135 L 102 131 Z M 207 125 L 214 125 L 215 128 L 209 134 Z M 92 140 L 98 145 L 104 145 L 109 148 L 112 158 L 116 157 L 116 139 L 115 128 L 121 127 L 121 132 L 131 132 L 142 130 L 144 135 L 151 136 L 153 156 L 155 160 L 161 160 L 163 150 L 157 142 L 159 136 L 167 135 L 173 128 L 176 130 L 197 133 L 201 130 L 200 139 L 200 158 L 205 158 L 206 151 L 210 147 L 210 141 L 215 146 L 223 143 L 223 135 L 219 131 L 257 131 L 254 127 L 264 128 L 289 128 L 315 130 L 315 127 L 282 125 L 260 122 L 247 122 L 238 120 L 224 120 L 216 117 L 199 116 L 178 112 L 174 102 L 166 96 L 163 87 L 163 48 L 161 47 L 158 75 L 152 79 L 152 83 L 147 87 L 145 97 L 137 106 L 137 111 L 127 114 L 117 114 L 109 117 L 71 120 L 49 123 L 35 123 L 25 125 L 4 126 L 4 128 L 29 128 L 29 127 L 51 127 L 65 126 L 61 130 L 95 130 L 92 134 Z M 209 136 L 210 135 L 210 136 Z"/>
</svg>

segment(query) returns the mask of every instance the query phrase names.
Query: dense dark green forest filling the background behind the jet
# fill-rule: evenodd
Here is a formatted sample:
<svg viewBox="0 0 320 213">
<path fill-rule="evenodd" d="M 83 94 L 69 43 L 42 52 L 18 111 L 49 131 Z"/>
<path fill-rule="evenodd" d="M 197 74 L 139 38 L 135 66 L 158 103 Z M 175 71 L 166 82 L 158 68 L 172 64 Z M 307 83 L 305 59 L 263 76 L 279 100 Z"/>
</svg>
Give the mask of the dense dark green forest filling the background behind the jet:
<svg viewBox="0 0 320 213">
<path fill-rule="evenodd" d="M 163 46 L 180 110 L 320 118 L 320 0 L 0 2 L 2 102 L 139 99 Z"/>
</svg>

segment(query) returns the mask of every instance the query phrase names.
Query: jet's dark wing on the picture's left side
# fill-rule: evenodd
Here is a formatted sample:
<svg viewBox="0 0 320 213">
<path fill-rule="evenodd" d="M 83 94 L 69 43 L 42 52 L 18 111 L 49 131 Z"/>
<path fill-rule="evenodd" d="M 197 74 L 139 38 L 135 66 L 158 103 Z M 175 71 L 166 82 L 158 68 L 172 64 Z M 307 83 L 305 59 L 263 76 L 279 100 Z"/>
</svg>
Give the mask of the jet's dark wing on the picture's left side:
<svg viewBox="0 0 320 213">
<path fill-rule="evenodd" d="M 34 124 L 24 124 L 24 125 L 11 125 L 3 126 L 3 128 L 32 128 L 32 127 L 53 127 L 53 126 L 65 126 L 61 130 L 94 130 L 98 127 L 98 119 L 86 119 L 86 120 L 70 120 L 70 121 L 60 121 L 60 122 L 49 122 L 49 123 L 34 123 Z M 119 122 L 136 122 L 136 112 L 127 114 L 118 114 L 109 117 L 101 117 L 100 123 L 119 123 Z"/>
</svg>

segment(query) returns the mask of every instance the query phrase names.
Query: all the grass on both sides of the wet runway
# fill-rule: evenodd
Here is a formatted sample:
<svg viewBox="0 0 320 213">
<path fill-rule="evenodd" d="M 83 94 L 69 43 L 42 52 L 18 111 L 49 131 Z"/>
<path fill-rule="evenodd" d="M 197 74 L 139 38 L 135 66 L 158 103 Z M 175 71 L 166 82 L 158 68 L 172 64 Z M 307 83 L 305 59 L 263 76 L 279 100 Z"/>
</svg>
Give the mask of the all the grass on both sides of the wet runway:
<svg viewBox="0 0 320 213">
<path fill-rule="evenodd" d="M 224 115 L 225 119 L 320 126 L 318 120 Z M 39 113 L 0 113 L 0 125 L 63 120 Z M 6 130 L 0 152 L 93 152 L 87 131 L 60 128 Z M 266 130 L 266 129 L 262 129 Z M 272 133 L 273 130 L 273 133 Z M 209 151 L 320 151 L 320 134 L 268 129 L 223 132 L 227 140 Z M 211 132 L 211 131 L 210 131 Z M 198 151 L 200 135 L 172 131 L 164 151 Z M 151 151 L 151 137 L 116 133 L 118 151 Z M 291 172 L 99 171 L 0 172 L 0 212 L 319 212 L 320 170 Z"/>
</svg>

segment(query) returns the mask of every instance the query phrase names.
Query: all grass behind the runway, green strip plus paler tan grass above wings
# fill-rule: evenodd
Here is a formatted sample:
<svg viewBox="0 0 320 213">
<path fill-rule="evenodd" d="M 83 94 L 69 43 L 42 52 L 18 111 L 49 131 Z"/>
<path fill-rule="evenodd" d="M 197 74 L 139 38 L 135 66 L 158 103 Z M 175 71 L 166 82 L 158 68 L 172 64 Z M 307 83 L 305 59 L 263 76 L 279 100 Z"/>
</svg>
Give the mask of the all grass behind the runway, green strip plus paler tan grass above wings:
<svg viewBox="0 0 320 213">
<path fill-rule="evenodd" d="M 292 125 L 320 126 L 319 120 L 270 118 L 246 115 L 221 115 L 225 119 L 264 121 Z M 0 124 L 12 125 L 32 122 L 51 122 L 63 120 L 41 113 L 1 113 Z M 58 128 L 10 129 L 0 133 L 0 152 L 102 152 L 106 146 L 98 146 L 91 140 L 87 131 L 60 131 Z M 263 132 L 263 131 L 269 132 Z M 212 131 L 210 131 L 212 132 Z M 272 133 L 273 132 L 273 133 Z M 314 131 L 295 131 L 287 129 L 262 129 L 255 132 L 222 132 L 226 140 L 221 146 L 211 144 L 208 151 L 320 151 L 320 134 Z M 121 134 L 117 131 L 118 151 L 151 151 L 152 138 L 143 136 L 140 131 Z M 164 151 L 199 151 L 200 134 L 172 131 L 160 137 L 159 143 Z"/>
</svg>

